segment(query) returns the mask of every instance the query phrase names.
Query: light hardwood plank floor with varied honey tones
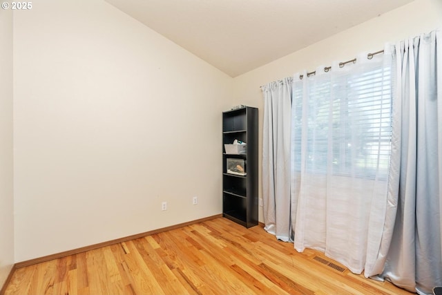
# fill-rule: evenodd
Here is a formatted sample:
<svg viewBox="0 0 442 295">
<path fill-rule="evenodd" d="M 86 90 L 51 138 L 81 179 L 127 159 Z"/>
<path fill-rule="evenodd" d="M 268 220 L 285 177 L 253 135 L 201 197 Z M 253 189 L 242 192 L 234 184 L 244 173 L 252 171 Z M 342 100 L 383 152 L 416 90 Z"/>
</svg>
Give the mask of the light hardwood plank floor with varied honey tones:
<svg viewBox="0 0 442 295">
<path fill-rule="evenodd" d="M 327 265 L 328 264 L 328 265 Z M 216 218 L 15 271 L 12 294 L 407 294 Z"/>
</svg>

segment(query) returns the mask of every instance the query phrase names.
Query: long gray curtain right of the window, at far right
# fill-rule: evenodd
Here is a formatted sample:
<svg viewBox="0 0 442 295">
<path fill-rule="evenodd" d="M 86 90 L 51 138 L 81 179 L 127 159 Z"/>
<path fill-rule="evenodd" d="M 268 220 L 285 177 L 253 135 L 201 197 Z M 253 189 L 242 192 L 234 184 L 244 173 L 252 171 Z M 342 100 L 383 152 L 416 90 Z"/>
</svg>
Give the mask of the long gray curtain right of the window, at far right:
<svg viewBox="0 0 442 295">
<path fill-rule="evenodd" d="M 382 276 L 411 292 L 442 285 L 442 42 L 434 31 L 396 44 L 389 199 L 396 218 Z M 392 210 L 394 211 L 394 210 Z M 390 225 L 388 225 L 390 223 Z M 387 229 L 387 228 L 386 228 Z M 386 230 L 385 233 L 391 233 Z"/>
</svg>

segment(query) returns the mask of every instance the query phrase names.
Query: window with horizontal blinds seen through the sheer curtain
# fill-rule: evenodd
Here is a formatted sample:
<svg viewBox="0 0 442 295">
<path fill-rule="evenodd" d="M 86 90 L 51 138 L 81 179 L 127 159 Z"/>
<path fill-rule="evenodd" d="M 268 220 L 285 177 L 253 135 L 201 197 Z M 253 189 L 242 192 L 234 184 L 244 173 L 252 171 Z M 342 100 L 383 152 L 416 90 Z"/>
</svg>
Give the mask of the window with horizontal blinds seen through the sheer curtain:
<svg viewBox="0 0 442 295">
<path fill-rule="evenodd" d="M 294 169 L 300 171 L 305 164 L 307 173 L 386 178 L 391 69 L 373 64 L 356 73 L 342 70 L 305 79 L 293 87 Z"/>
</svg>

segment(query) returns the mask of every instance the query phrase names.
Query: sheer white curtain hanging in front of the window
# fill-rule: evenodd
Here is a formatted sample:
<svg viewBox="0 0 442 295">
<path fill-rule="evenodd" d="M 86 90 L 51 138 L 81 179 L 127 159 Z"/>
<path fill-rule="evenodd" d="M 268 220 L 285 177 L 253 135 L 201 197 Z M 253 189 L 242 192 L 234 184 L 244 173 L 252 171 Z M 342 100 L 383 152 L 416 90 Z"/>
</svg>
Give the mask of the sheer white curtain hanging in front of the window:
<svg viewBox="0 0 442 295">
<path fill-rule="evenodd" d="M 318 249 L 360 274 L 383 229 L 392 72 L 382 55 L 357 60 L 294 77 L 291 198 L 296 250 Z"/>
</svg>

